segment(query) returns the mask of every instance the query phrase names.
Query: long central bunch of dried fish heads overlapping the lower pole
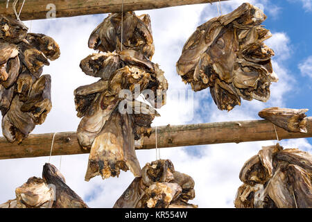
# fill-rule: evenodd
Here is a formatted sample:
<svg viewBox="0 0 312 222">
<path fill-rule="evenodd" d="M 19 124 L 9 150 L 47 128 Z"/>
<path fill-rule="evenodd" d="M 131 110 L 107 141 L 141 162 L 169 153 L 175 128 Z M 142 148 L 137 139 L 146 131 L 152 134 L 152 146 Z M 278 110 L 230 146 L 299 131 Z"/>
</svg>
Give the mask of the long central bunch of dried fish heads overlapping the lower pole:
<svg viewBox="0 0 312 222">
<path fill-rule="evenodd" d="M 166 103 L 168 89 L 164 71 L 150 62 L 154 53 L 150 17 L 123 13 L 121 33 L 121 14 L 110 14 L 91 34 L 89 47 L 103 53 L 80 62 L 85 74 L 101 79 L 74 91 L 77 116 L 83 117 L 78 140 L 91 148 L 85 180 L 119 176 L 120 170 L 139 177 L 135 146 L 142 146 L 143 137 L 150 135 L 150 124 L 159 115 L 154 108 Z M 140 94 L 150 105 L 136 100 Z"/>
</svg>

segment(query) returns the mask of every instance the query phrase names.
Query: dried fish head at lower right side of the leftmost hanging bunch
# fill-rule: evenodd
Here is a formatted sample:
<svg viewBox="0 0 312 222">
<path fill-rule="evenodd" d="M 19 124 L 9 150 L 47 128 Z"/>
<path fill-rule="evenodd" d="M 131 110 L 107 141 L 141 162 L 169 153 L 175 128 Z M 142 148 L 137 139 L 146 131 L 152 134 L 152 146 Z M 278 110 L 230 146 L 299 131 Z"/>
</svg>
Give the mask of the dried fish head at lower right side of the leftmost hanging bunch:
<svg viewBox="0 0 312 222">
<path fill-rule="evenodd" d="M 30 112 L 36 124 L 42 124 L 51 111 L 51 76 L 43 75 L 33 86 L 29 98 L 21 106 L 22 112 Z"/>
</svg>

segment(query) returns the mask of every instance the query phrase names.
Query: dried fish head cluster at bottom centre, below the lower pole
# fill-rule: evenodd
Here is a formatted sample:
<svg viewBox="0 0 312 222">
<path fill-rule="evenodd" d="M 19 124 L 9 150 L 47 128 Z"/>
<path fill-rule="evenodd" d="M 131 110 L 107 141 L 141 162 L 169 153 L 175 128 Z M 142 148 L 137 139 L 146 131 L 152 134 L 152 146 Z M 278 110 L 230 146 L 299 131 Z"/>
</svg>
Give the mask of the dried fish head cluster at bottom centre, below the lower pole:
<svg viewBox="0 0 312 222">
<path fill-rule="evenodd" d="M 170 160 L 146 164 L 114 208 L 197 208 L 188 203 L 195 198 L 194 180 L 175 171 Z"/>
</svg>

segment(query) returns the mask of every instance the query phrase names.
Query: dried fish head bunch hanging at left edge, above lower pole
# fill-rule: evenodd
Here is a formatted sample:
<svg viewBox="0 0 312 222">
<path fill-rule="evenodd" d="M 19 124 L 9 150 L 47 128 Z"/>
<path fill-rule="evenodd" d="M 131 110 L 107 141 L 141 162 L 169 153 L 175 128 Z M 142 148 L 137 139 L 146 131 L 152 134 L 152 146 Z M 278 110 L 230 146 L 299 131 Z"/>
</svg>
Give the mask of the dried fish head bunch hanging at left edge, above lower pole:
<svg viewBox="0 0 312 222">
<path fill-rule="evenodd" d="M 51 37 L 27 31 L 17 19 L 0 15 L 0 110 L 9 142 L 20 143 L 52 108 L 51 76 L 42 70 L 60 57 L 60 48 Z"/>
</svg>

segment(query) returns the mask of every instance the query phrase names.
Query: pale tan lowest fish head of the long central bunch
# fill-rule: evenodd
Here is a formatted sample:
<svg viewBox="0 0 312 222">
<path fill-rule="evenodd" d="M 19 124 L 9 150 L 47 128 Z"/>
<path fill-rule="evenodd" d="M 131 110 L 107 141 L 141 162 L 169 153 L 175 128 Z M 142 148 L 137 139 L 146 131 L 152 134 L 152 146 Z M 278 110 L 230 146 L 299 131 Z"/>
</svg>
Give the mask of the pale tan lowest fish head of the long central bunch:
<svg viewBox="0 0 312 222">
<path fill-rule="evenodd" d="M 141 167 L 135 154 L 133 122 L 130 114 L 118 110 L 110 115 L 101 133 L 92 143 L 85 180 L 97 175 L 105 178 L 119 176 L 120 170 L 141 176 Z"/>
</svg>

